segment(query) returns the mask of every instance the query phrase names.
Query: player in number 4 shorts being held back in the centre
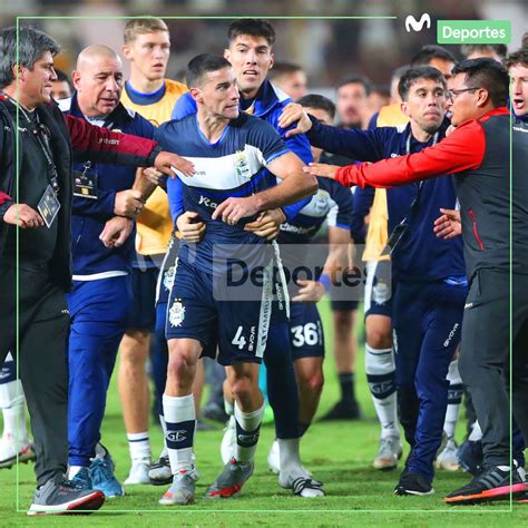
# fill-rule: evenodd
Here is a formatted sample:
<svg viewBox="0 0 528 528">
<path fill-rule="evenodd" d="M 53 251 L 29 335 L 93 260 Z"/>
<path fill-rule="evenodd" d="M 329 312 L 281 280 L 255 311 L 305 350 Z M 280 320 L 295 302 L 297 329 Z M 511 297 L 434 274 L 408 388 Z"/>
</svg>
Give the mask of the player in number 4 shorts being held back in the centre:
<svg viewBox="0 0 528 528">
<path fill-rule="evenodd" d="M 168 304 L 169 364 L 163 402 L 174 481 L 160 500 L 164 505 L 194 500 L 192 384 L 199 356 L 214 353 L 216 346 L 235 398 L 237 436 L 233 458 L 206 497 L 236 495 L 253 472 L 264 411 L 258 364 L 271 316 L 273 252 L 265 238 L 244 226 L 258 213 L 297 202 L 316 189 L 315 178 L 305 178 L 302 162 L 273 127 L 239 113 L 236 79 L 226 59 L 196 57 L 188 65 L 187 81 L 197 114 L 156 131 L 160 144 L 192 159 L 196 168 L 193 177 L 178 173 L 167 185 L 170 199 L 183 194 L 185 213 L 178 217 L 178 229 L 196 219 L 207 227 L 199 243 L 182 243 Z M 264 167 L 283 182 L 275 185 Z M 216 286 L 227 267 L 216 255 L 228 257 L 233 247 L 243 250 L 248 270 L 261 266 L 263 271 L 258 301 L 236 299 L 237 292 L 228 286 L 218 295 Z"/>
</svg>

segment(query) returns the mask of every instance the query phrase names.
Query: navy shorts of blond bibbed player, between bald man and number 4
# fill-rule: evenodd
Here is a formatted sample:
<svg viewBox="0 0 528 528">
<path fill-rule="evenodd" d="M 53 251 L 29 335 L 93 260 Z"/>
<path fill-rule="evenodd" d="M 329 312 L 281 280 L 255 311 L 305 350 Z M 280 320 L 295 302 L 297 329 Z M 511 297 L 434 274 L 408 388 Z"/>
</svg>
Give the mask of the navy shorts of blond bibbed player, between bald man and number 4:
<svg viewBox="0 0 528 528">
<path fill-rule="evenodd" d="M 131 268 L 133 302 L 127 330 L 154 332 L 156 327 L 156 283 L 158 268 Z"/>
</svg>

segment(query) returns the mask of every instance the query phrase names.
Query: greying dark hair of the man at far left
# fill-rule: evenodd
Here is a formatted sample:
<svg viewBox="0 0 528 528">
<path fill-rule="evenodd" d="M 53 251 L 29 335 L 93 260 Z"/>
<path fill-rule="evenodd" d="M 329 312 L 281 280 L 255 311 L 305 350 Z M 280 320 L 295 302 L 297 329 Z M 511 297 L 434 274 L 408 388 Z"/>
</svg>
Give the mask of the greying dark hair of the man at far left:
<svg viewBox="0 0 528 528">
<path fill-rule="evenodd" d="M 10 27 L 0 31 L 0 88 L 9 86 L 14 80 L 13 66 L 18 63 L 33 69 L 35 62 L 49 51 L 53 57 L 60 51 L 59 43 L 49 35 L 29 26 L 18 29 Z"/>
</svg>

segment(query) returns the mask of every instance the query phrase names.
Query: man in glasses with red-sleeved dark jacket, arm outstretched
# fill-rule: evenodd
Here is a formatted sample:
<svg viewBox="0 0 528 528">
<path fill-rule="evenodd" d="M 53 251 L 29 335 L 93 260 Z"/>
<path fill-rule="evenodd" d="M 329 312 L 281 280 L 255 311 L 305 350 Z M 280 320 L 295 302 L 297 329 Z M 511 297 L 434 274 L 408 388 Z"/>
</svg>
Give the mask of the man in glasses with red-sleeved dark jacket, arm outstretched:
<svg viewBox="0 0 528 528">
<path fill-rule="evenodd" d="M 454 174 L 470 282 L 459 369 L 482 429 L 485 470 L 446 501 L 470 503 L 508 499 L 510 493 L 526 490 L 510 458 L 510 412 L 503 374 L 510 339 L 515 341 L 528 321 L 528 186 L 520 156 L 514 158 L 510 180 L 506 69 L 491 59 L 472 59 L 462 61 L 452 72 L 449 97 L 456 129 L 449 137 L 419 154 L 373 165 L 314 165 L 310 170 L 361 187 L 391 187 Z M 514 140 L 514 151 L 516 145 Z M 514 354 L 511 361 L 514 401 L 525 402 L 514 408 L 514 414 L 528 439 L 526 352 Z"/>
</svg>

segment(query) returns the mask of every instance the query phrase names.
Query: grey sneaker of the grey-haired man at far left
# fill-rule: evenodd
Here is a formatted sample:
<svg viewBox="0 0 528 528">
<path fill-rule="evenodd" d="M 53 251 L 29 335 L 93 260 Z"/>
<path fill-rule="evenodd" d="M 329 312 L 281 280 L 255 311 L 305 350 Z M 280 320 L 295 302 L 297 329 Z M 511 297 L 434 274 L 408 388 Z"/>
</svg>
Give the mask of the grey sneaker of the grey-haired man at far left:
<svg viewBox="0 0 528 528">
<path fill-rule="evenodd" d="M 33 502 L 28 515 L 90 514 L 105 502 L 105 493 L 80 489 L 71 480 L 62 477 L 49 479 L 35 490 Z"/>
</svg>

